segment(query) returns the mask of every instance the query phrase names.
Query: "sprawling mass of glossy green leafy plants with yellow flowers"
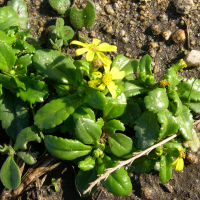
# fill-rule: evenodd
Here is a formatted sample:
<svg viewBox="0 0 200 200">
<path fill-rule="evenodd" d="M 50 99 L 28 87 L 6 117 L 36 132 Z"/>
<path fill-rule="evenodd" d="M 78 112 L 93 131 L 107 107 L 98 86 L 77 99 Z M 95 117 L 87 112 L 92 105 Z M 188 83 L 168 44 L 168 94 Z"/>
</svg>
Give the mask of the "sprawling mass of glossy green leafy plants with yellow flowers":
<svg viewBox="0 0 200 200">
<path fill-rule="evenodd" d="M 185 67 L 183 60 L 156 82 L 149 55 L 140 60 L 117 55 L 111 61 L 99 51 L 116 47 L 95 39 L 91 44 L 72 42 L 85 47 L 77 54 L 87 52 L 86 60 L 74 61 L 27 43 L 30 30 L 19 28 L 21 19 L 14 13 L 0 8 L 0 120 L 12 140 L 0 145 L 8 155 L 1 167 L 5 187 L 20 184 L 18 158 L 36 162 L 37 147 L 35 151 L 30 141 L 44 141 L 53 156 L 78 165 L 76 187 L 82 196 L 95 192 L 100 181 L 112 193 L 126 196 L 132 190 L 129 172 L 155 169 L 166 183 L 172 166 L 183 169 L 186 148 L 195 152 L 199 147 L 192 114 L 200 113 L 200 81 L 182 81 L 177 75 Z M 57 41 L 68 44 L 66 30 L 59 18 L 55 40 L 51 38 L 59 50 Z"/>
</svg>

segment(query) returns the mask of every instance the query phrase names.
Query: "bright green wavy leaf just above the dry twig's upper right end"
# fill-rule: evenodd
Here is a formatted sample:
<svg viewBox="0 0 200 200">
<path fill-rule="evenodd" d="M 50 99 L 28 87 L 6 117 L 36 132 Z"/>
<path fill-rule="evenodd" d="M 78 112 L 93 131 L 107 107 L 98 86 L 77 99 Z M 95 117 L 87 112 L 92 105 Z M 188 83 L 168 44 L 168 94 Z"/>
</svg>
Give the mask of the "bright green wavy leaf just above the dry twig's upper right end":
<svg viewBox="0 0 200 200">
<path fill-rule="evenodd" d="M 158 122 L 161 124 L 158 140 L 178 132 L 179 125 L 176 118 L 168 110 L 158 113 Z"/>
</svg>

